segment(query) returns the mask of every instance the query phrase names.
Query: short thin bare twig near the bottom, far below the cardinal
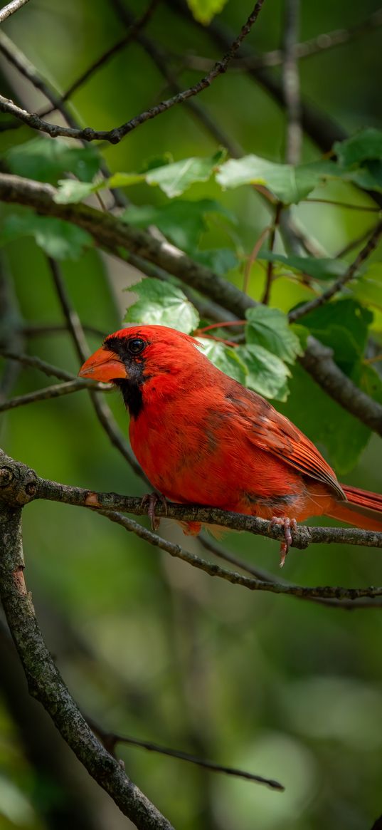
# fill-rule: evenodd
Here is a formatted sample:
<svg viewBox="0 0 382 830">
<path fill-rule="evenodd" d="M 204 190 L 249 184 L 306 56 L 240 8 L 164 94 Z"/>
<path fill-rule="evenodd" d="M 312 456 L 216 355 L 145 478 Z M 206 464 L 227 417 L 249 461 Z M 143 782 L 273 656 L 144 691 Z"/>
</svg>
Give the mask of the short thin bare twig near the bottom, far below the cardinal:
<svg viewBox="0 0 382 830">
<path fill-rule="evenodd" d="M 271 789 L 278 789 L 281 791 L 285 789 L 283 784 L 279 784 L 278 781 L 274 781 L 273 779 L 266 779 L 263 775 L 254 775 L 253 773 L 246 772 L 244 769 L 235 769 L 235 767 L 225 767 L 222 766 L 222 764 L 215 764 L 214 761 L 206 761 L 205 759 L 198 758 L 196 755 L 192 755 L 189 752 L 182 752 L 181 749 L 169 749 L 168 746 L 154 744 L 151 740 L 138 740 L 137 738 L 130 738 L 126 735 L 117 735 L 115 732 L 106 732 L 98 724 L 95 724 L 94 720 L 89 718 L 86 718 L 86 720 L 95 734 L 99 735 L 104 747 L 108 749 L 110 754 L 114 754 L 114 749 L 117 744 L 139 746 L 142 749 L 147 749 L 149 752 L 158 752 L 159 754 L 167 755 L 170 758 L 188 761 L 190 764 L 196 764 L 196 766 L 202 767 L 203 769 L 210 769 L 211 772 L 234 775 L 236 778 L 247 779 L 247 781 L 254 781 L 257 784 L 265 784 Z"/>
</svg>

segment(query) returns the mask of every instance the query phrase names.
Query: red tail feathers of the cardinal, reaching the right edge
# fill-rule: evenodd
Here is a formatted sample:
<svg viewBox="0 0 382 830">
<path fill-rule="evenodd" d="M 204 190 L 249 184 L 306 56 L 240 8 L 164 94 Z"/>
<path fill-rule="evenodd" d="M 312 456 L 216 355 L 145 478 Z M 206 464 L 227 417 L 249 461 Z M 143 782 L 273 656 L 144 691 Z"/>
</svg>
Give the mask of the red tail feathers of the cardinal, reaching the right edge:
<svg viewBox="0 0 382 830">
<path fill-rule="evenodd" d="M 331 517 L 364 530 L 382 531 L 382 496 L 358 487 L 342 485 L 342 489 L 347 501 L 338 501 Z"/>
</svg>

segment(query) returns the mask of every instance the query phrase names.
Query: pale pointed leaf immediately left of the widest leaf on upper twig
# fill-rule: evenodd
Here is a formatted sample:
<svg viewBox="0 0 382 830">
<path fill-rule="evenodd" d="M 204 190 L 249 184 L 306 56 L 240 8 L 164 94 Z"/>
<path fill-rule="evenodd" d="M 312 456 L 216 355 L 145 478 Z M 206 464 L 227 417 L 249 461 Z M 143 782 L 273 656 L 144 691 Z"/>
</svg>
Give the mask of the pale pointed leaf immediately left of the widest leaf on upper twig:
<svg viewBox="0 0 382 830">
<path fill-rule="evenodd" d="M 147 184 L 157 184 L 168 198 L 180 196 L 194 182 L 207 182 L 215 167 L 225 159 L 225 149 L 205 159 L 197 157 L 165 164 L 145 174 Z"/>
</svg>

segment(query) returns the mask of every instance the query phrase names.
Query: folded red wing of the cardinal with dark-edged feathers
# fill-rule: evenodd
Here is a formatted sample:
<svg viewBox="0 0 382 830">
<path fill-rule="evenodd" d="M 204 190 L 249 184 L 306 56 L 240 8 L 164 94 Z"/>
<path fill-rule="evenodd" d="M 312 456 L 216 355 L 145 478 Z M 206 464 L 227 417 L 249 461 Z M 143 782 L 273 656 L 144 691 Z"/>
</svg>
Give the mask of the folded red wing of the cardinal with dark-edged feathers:
<svg viewBox="0 0 382 830">
<path fill-rule="evenodd" d="M 235 387 L 232 385 L 226 397 L 235 406 L 240 419 L 245 419 L 249 442 L 259 449 L 272 452 L 273 456 L 281 458 L 302 475 L 322 481 L 341 499 L 346 498 L 335 472 L 326 464 L 317 447 L 268 401 L 240 387 L 239 383 L 235 383 Z"/>
</svg>

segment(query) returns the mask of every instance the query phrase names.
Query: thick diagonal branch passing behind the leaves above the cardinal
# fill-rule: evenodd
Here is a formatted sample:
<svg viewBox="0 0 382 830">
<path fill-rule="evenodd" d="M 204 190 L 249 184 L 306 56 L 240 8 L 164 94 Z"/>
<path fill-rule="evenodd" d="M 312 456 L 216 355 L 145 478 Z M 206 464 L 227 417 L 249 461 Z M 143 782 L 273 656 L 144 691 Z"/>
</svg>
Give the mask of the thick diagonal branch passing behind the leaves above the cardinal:
<svg viewBox="0 0 382 830">
<path fill-rule="evenodd" d="M 118 217 L 103 213 L 85 204 L 55 202 L 56 188 L 51 184 L 31 179 L 0 175 L 0 201 L 34 207 L 45 216 L 54 216 L 84 228 L 99 247 L 106 247 L 118 256 L 120 247 L 153 262 L 210 297 L 241 320 L 245 311 L 256 305 L 254 300 L 239 291 L 232 283 L 191 260 L 170 242 L 162 242 L 137 227 L 121 222 Z M 346 374 L 336 366 L 330 349 L 313 338 L 308 339 L 307 350 L 301 358 L 304 369 L 334 398 L 367 427 L 382 435 L 382 406 L 361 392 Z"/>
</svg>

